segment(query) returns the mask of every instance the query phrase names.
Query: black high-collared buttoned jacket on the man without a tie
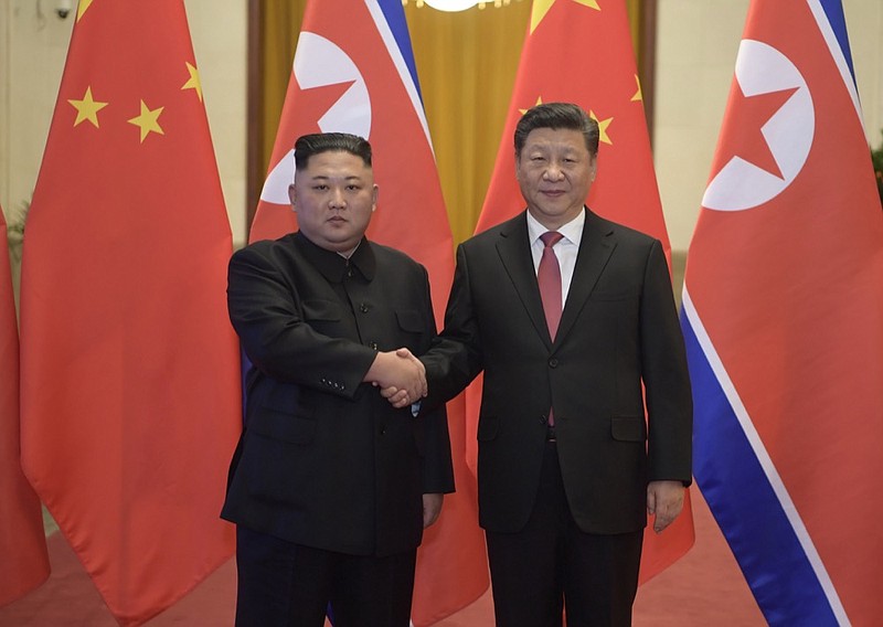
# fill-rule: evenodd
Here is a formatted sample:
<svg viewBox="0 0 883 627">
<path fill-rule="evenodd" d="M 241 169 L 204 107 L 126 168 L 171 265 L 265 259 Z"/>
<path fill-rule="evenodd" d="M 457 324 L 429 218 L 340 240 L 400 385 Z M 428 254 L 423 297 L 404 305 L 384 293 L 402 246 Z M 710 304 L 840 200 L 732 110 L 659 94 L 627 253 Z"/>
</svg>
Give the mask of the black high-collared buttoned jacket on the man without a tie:
<svg viewBox="0 0 883 627">
<path fill-rule="evenodd" d="M 233 256 L 227 305 L 253 368 L 222 517 L 343 553 L 417 546 L 422 495 L 454 489 L 444 407 L 415 418 L 361 381 L 375 351 L 429 347 L 426 269 L 366 240 L 347 261 L 295 233 Z"/>
</svg>

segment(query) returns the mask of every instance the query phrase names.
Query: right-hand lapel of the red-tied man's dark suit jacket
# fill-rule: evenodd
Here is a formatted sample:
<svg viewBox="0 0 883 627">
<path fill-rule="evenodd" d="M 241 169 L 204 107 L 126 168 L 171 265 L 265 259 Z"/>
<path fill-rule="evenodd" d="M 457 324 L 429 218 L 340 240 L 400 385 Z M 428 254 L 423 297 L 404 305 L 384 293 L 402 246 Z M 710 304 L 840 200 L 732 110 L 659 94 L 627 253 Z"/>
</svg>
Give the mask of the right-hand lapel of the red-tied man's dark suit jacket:
<svg viewBox="0 0 883 627">
<path fill-rule="evenodd" d="M 586 209 L 583 238 L 579 242 L 579 252 L 576 255 L 576 267 L 567 291 L 567 301 L 564 304 L 558 332 L 555 336 L 556 344 L 573 328 L 586 299 L 592 294 L 592 290 L 595 289 L 595 284 L 598 281 L 600 273 L 604 272 L 604 267 L 610 259 L 610 255 L 616 248 L 613 233 L 613 229 L 606 221 Z"/>
</svg>

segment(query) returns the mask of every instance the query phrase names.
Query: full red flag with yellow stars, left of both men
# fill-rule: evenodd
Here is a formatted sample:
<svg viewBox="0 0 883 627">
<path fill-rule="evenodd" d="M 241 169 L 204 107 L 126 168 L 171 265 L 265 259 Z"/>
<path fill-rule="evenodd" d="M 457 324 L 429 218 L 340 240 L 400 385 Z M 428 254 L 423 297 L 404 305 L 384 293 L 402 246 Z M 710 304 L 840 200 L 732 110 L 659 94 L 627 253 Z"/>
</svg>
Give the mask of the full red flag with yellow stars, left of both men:
<svg viewBox="0 0 883 627">
<path fill-rule="evenodd" d="M 22 266 L 25 474 L 123 625 L 233 552 L 232 237 L 181 0 L 79 2 Z"/>
</svg>

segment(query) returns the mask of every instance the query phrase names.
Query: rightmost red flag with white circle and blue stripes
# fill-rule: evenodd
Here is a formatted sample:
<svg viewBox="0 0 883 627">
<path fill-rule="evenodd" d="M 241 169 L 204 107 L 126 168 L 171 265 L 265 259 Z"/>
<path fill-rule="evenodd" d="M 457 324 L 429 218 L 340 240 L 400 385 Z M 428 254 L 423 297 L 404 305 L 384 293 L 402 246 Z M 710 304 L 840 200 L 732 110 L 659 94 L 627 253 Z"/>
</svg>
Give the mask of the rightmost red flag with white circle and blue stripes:
<svg viewBox="0 0 883 627">
<path fill-rule="evenodd" d="M 696 482 L 770 625 L 883 613 L 883 212 L 839 0 L 753 0 L 690 245 Z"/>
</svg>

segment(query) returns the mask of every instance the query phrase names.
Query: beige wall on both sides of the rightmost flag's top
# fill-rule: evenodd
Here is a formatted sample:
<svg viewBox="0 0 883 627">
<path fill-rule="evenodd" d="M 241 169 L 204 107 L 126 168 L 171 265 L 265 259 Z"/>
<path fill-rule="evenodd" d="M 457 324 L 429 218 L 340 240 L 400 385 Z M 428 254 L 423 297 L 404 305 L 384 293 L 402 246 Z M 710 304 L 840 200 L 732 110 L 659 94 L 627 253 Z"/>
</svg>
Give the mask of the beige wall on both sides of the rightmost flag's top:
<svg viewBox="0 0 883 627">
<path fill-rule="evenodd" d="M 748 0 L 659 0 L 655 160 L 672 248 L 690 244 Z M 883 2 L 843 0 L 869 141 L 883 127 Z"/>
</svg>

